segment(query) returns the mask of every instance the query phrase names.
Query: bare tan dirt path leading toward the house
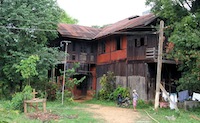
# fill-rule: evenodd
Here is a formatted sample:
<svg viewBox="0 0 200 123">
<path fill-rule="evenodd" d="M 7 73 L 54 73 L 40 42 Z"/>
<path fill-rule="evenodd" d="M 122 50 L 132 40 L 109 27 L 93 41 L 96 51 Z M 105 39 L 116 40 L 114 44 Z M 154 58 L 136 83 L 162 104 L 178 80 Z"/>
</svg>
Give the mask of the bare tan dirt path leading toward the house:
<svg viewBox="0 0 200 123">
<path fill-rule="evenodd" d="M 104 123 L 151 123 L 148 117 L 144 117 L 132 108 L 110 107 L 97 104 L 87 104 L 84 109 L 93 113 L 97 119 L 103 119 Z"/>
</svg>

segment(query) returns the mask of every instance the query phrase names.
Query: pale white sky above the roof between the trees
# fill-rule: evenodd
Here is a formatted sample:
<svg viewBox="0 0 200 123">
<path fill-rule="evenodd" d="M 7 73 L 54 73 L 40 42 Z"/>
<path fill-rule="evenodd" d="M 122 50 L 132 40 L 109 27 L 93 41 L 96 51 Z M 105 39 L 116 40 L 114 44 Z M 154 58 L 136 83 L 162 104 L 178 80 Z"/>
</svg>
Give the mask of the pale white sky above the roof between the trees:
<svg viewBox="0 0 200 123">
<path fill-rule="evenodd" d="M 103 26 L 150 10 L 146 0 L 57 0 L 79 25 Z"/>
</svg>

